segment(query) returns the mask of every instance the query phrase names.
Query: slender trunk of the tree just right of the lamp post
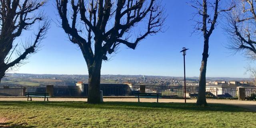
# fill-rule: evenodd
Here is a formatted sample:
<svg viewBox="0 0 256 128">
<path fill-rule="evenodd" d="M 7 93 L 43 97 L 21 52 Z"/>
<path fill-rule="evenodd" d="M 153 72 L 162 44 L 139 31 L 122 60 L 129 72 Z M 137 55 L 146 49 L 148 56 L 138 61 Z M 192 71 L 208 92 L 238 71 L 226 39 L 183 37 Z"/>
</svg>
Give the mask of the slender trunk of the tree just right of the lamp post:
<svg viewBox="0 0 256 128">
<path fill-rule="evenodd" d="M 208 58 L 208 49 L 209 49 L 209 38 L 204 38 L 204 52 L 202 58 L 202 64 L 200 68 L 200 76 L 199 76 L 199 88 L 198 88 L 198 99 L 196 101 L 196 105 L 199 106 L 207 106 L 206 102 L 206 65 Z"/>
</svg>

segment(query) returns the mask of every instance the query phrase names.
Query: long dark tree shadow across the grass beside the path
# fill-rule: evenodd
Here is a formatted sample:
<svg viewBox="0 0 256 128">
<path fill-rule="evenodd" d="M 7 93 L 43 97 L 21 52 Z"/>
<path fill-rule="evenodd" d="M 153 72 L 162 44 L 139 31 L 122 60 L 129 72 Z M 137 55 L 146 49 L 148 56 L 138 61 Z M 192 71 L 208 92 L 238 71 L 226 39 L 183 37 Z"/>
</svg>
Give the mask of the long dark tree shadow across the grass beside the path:
<svg viewBox="0 0 256 128">
<path fill-rule="evenodd" d="M 41 101 L 0 101 L 0 106 L 18 107 L 67 107 L 67 108 L 98 108 L 98 109 L 125 109 L 125 110 L 154 110 L 162 109 L 190 110 L 190 111 L 223 111 L 223 112 L 250 112 L 238 106 L 226 104 L 208 104 L 206 107 L 196 106 L 195 103 L 155 103 L 155 102 L 104 102 L 102 104 L 88 104 L 86 102 L 41 102 Z"/>
</svg>

